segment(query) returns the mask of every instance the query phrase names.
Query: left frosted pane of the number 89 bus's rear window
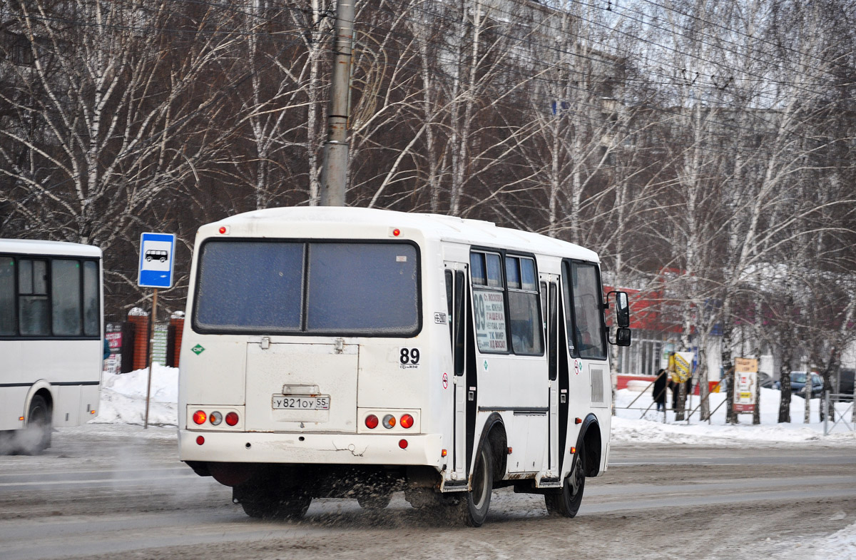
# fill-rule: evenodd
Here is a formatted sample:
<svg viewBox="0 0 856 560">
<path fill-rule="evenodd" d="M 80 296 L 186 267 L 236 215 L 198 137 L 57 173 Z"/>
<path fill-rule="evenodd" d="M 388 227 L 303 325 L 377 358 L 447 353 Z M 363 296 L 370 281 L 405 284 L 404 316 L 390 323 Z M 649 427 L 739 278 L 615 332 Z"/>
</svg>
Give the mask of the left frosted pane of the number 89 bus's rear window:
<svg viewBox="0 0 856 560">
<path fill-rule="evenodd" d="M 303 243 L 211 241 L 199 257 L 195 325 L 299 331 Z"/>
</svg>

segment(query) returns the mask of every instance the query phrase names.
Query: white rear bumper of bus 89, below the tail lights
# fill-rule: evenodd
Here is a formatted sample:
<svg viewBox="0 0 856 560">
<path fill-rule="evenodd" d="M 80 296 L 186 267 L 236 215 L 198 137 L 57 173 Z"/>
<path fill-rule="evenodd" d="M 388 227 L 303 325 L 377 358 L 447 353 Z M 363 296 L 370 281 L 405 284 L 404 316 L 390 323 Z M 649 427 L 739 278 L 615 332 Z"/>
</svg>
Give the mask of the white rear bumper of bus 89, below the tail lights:
<svg viewBox="0 0 856 560">
<path fill-rule="evenodd" d="M 204 442 L 199 444 L 199 438 Z M 401 449 L 401 441 L 407 447 Z M 181 461 L 427 465 L 445 463 L 440 434 L 178 432 Z"/>
</svg>

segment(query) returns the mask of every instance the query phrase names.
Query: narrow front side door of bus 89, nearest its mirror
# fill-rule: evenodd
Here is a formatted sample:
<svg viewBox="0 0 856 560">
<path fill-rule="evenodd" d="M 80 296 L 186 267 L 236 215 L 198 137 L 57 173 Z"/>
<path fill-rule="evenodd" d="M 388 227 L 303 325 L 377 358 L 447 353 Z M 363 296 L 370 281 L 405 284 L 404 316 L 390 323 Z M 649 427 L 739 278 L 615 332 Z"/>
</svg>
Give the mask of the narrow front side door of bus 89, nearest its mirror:
<svg viewBox="0 0 856 560">
<path fill-rule="evenodd" d="M 546 472 L 539 486 L 561 485 L 559 471 L 559 408 L 568 408 L 568 393 L 559 392 L 559 276 L 541 274 L 541 307 L 544 317 L 544 340 L 547 341 L 548 408 Z M 565 414 L 567 420 L 568 415 Z"/>
</svg>

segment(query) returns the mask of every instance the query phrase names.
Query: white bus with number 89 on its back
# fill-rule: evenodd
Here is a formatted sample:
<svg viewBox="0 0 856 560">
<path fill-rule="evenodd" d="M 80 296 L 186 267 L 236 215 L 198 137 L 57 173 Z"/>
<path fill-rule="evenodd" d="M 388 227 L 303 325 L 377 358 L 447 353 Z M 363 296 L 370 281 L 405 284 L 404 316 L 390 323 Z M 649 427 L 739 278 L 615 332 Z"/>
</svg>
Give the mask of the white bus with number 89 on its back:
<svg viewBox="0 0 856 560">
<path fill-rule="evenodd" d="M 597 254 L 493 223 L 364 208 L 202 226 L 187 296 L 179 453 L 247 515 L 312 497 L 479 526 L 493 488 L 573 517 L 607 467 Z M 610 298 L 611 299 L 611 298 Z M 627 296 L 619 326 L 627 327 Z M 614 343 L 630 343 L 630 331 Z"/>
</svg>

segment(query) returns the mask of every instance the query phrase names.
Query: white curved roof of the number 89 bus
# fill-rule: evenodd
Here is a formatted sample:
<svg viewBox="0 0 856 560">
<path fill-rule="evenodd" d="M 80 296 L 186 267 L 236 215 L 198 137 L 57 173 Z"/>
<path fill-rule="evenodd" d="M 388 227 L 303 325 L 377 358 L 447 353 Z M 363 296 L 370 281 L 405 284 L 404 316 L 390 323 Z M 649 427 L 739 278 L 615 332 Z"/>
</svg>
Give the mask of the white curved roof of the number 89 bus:
<svg viewBox="0 0 856 560">
<path fill-rule="evenodd" d="M 199 229 L 203 235 L 215 235 L 223 225 L 243 229 L 249 226 L 257 235 L 294 235 L 292 223 L 330 224 L 330 237 L 337 237 L 336 227 L 347 225 L 419 229 L 429 239 L 455 241 L 476 246 L 503 247 L 530 253 L 552 254 L 599 262 L 597 253 L 569 243 L 519 229 L 497 227 L 495 223 L 442 214 L 422 214 L 343 206 L 291 206 L 249 211 L 210 223 Z M 258 228 L 258 229 L 257 229 Z M 264 233 L 263 233 L 264 232 Z"/>
</svg>

